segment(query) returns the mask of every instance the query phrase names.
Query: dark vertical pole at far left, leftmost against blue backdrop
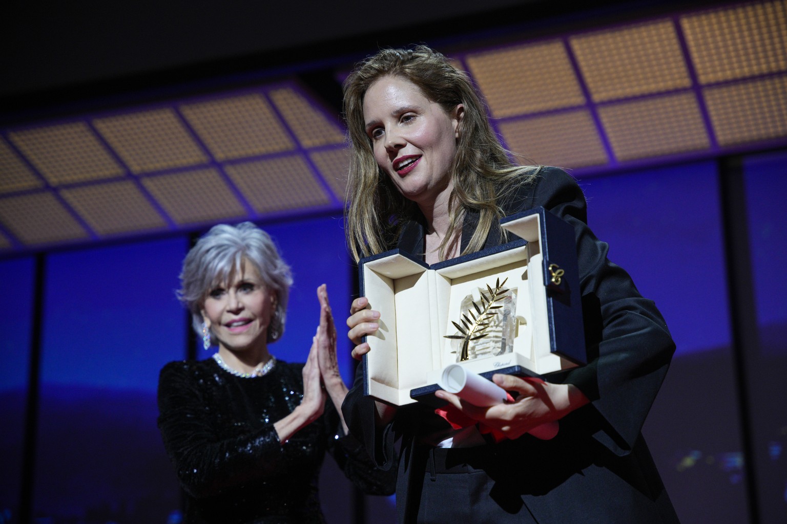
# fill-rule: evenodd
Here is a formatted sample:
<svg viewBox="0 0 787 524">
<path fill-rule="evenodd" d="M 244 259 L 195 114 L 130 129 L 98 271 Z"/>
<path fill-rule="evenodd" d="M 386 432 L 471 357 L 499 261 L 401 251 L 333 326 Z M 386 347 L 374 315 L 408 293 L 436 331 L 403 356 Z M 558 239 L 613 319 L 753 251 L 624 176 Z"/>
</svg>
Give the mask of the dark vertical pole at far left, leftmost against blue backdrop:
<svg viewBox="0 0 787 524">
<path fill-rule="evenodd" d="M 44 284 L 46 255 L 35 255 L 33 310 L 30 328 L 30 369 L 28 370 L 28 405 L 24 413 L 22 446 L 22 485 L 19 501 L 19 522 L 33 522 L 33 488 L 35 486 L 35 447 L 39 436 L 39 372 L 41 369 L 41 335 L 43 329 Z"/>
</svg>

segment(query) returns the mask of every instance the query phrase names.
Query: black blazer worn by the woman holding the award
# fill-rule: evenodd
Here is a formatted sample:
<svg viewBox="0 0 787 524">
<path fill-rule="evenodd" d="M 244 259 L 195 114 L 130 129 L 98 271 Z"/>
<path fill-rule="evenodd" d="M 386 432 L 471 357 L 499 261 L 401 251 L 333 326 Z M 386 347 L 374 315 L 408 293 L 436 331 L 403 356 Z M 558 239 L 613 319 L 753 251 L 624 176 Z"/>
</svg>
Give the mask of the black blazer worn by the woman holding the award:
<svg viewBox="0 0 787 524">
<path fill-rule="evenodd" d="M 560 420 L 552 440 L 525 434 L 494 445 L 497 458 L 483 469 L 500 486 L 497 496 L 515 497 L 538 522 L 678 522 L 640 433 L 674 353 L 667 324 L 628 273 L 609 262 L 608 245 L 586 224 L 585 197 L 570 175 L 543 168 L 501 205 L 505 214 L 538 206 L 574 226 L 589 357 L 588 365 L 550 380 L 575 384 L 591 403 Z M 477 223 L 477 214 L 466 215 L 463 246 Z M 406 224 L 398 247 L 423 253 L 423 230 L 418 222 Z M 493 229 L 485 247 L 498 244 L 501 235 Z M 417 509 L 420 489 L 428 488 L 421 486 L 427 451 L 414 442 L 423 427 L 439 421 L 429 407 L 407 405 L 377 429 L 374 410 L 359 366 L 342 406 L 345 420 L 384 468 L 396 464 L 393 443 L 403 439 L 397 514 L 399 522 L 413 522 L 408 508 Z"/>
</svg>

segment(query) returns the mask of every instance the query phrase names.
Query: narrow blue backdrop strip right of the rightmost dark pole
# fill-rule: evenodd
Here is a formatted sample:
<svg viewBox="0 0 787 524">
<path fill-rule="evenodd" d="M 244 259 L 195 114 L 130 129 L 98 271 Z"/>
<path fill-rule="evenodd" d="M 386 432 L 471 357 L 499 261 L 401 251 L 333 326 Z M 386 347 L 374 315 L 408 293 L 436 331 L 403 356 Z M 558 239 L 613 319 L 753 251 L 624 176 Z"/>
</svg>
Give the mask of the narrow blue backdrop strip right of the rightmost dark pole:
<svg viewBox="0 0 787 524">
<path fill-rule="evenodd" d="M 787 155 L 744 163 L 759 352 L 748 363 L 752 447 L 762 522 L 787 520 Z"/>
</svg>

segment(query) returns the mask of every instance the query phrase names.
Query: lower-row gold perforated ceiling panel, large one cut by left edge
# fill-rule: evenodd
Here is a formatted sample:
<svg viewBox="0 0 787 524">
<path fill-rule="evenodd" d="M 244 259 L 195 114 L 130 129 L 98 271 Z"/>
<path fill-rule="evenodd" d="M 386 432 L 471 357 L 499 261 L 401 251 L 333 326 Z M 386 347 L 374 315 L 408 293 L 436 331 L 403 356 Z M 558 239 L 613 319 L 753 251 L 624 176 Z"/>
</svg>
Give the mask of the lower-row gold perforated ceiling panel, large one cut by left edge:
<svg viewBox="0 0 787 524">
<path fill-rule="evenodd" d="M 0 222 L 22 244 L 49 244 L 88 237 L 50 192 L 0 199 Z"/>
</svg>

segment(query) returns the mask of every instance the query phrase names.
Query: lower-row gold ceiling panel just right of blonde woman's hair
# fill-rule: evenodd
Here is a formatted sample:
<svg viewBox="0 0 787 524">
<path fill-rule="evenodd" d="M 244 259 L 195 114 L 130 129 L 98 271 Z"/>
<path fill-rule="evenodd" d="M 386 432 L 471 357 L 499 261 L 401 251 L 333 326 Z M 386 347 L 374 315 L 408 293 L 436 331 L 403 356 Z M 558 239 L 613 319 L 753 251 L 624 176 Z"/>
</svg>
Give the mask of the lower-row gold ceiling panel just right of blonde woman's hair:
<svg viewBox="0 0 787 524">
<path fill-rule="evenodd" d="M 508 150 L 533 163 L 576 168 L 608 161 L 586 109 L 510 120 L 501 123 L 500 130 Z"/>
</svg>

